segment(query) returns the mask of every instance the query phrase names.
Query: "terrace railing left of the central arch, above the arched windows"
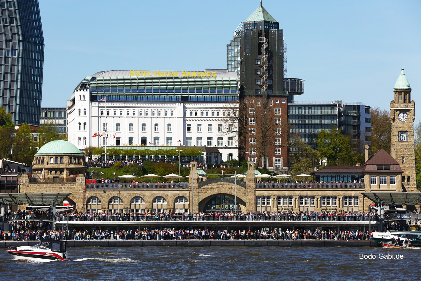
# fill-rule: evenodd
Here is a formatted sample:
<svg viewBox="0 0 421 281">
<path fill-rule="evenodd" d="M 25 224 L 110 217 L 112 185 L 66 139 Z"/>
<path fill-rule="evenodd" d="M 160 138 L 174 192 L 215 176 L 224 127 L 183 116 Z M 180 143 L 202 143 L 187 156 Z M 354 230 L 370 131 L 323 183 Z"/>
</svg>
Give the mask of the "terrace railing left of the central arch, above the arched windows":
<svg viewBox="0 0 421 281">
<path fill-rule="evenodd" d="M 188 189 L 188 182 L 180 183 L 109 183 L 109 184 L 86 184 L 86 189 Z"/>
</svg>

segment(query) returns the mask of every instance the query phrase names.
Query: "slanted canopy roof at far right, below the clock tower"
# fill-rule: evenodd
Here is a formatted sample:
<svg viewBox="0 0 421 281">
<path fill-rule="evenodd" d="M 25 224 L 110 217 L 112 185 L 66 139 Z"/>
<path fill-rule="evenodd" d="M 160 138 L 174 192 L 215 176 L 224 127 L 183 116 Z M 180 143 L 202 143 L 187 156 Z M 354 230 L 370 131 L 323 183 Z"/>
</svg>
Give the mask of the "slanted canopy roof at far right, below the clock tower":
<svg viewBox="0 0 421 281">
<path fill-rule="evenodd" d="M 361 192 L 374 203 L 385 205 L 415 205 L 421 203 L 421 192 Z"/>
</svg>

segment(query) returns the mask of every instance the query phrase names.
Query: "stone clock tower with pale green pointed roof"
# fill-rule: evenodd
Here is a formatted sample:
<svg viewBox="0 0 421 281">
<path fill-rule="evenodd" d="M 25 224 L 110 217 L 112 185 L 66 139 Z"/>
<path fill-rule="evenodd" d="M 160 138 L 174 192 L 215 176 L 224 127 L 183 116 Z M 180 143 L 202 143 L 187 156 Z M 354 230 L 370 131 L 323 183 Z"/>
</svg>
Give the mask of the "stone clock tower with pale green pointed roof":
<svg viewBox="0 0 421 281">
<path fill-rule="evenodd" d="M 399 162 L 404 192 L 417 192 L 415 177 L 414 120 L 415 102 L 411 100 L 411 86 L 401 69 L 394 85 L 394 100 L 390 103 L 392 134 L 390 152 Z"/>
</svg>

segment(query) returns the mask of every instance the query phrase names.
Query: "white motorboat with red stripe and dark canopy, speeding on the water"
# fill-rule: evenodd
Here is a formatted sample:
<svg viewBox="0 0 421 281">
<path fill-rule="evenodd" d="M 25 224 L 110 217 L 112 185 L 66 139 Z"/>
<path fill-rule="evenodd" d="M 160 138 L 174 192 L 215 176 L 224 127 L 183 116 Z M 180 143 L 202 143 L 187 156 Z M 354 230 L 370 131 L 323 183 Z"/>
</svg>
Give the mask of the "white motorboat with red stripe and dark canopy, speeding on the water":
<svg viewBox="0 0 421 281">
<path fill-rule="evenodd" d="M 27 259 L 34 262 L 70 260 L 67 256 L 66 241 L 62 240 L 42 239 L 35 246 L 9 246 L 6 252 L 14 259 Z"/>
</svg>

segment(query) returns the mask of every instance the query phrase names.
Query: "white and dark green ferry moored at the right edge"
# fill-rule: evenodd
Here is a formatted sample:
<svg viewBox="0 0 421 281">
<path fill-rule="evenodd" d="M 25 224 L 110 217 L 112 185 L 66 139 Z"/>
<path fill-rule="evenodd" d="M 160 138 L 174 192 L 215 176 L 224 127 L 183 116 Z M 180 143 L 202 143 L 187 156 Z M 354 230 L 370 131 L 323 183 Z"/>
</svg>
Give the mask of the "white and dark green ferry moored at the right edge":
<svg viewBox="0 0 421 281">
<path fill-rule="evenodd" d="M 400 238 L 402 244 L 397 247 L 397 243 L 392 243 L 392 238 L 397 240 Z M 373 232 L 373 239 L 378 246 L 385 246 L 390 248 L 407 248 L 411 247 L 421 248 L 421 231 L 386 231 Z M 405 243 L 405 246 L 403 244 Z"/>
</svg>

